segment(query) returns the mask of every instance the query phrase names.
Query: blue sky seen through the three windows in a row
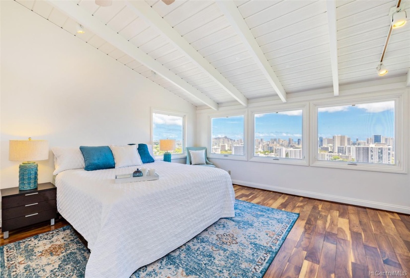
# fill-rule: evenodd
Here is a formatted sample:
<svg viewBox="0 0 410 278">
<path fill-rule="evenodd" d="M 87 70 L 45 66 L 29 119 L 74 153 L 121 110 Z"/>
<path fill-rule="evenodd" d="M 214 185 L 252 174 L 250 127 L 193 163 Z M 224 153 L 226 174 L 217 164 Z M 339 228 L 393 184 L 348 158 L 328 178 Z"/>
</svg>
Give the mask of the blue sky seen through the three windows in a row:
<svg viewBox="0 0 410 278">
<path fill-rule="evenodd" d="M 244 116 L 212 119 L 212 138 L 244 138 Z M 319 109 L 318 133 L 324 138 L 347 135 L 366 140 L 394 137 L 394 101 Z M 302 110 L 255 115 L 255 138 L 302 139 Z"/>
</svg>

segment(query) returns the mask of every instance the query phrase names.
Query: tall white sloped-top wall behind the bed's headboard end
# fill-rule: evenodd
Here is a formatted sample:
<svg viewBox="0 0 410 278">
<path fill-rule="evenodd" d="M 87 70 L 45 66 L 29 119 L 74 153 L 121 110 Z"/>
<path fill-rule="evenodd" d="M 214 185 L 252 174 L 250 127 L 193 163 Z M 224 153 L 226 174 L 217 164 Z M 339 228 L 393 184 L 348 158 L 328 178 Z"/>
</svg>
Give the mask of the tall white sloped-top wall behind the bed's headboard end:
<svg viewBox="0 0 410 278">
<path fill-rule="evenodd" d="M 9 139 L 46 139 L 50 148 L 149 143 L 152 107 L 186 113 L 193 145 L 195 106 L 17 2 L 0 4 L 0 188 L 18 186 Z M 49 157 L 38 161 L 39 183 L 52 180 Z"/>
</svg>

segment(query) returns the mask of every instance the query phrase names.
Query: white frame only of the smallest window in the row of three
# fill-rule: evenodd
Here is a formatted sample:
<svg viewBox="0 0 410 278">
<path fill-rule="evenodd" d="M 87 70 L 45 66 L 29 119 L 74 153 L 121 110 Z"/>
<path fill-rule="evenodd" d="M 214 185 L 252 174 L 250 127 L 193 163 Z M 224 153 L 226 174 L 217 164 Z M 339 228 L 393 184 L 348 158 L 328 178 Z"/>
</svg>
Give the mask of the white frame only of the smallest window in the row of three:
<svg viewBox="0 0 410 278">
<path fill-rule="evenodd" d="M 244 116 L 244 155 L 235 154 L 218 154 L 212 152 L 212 119 L 214 118 L 224 118 L 224 117 L 235 117 Z M 235 112 L 224 112 L 224 113 L 213 113 L 208 116 L 208 145 L 207 145 L 207 157 L 208 158 L 218 158 L 218 159 L 229 159 L 229 160 L 245 160 L 247 161 L 247 112 L 246 110 L 240 110 Z"/>
</svg>

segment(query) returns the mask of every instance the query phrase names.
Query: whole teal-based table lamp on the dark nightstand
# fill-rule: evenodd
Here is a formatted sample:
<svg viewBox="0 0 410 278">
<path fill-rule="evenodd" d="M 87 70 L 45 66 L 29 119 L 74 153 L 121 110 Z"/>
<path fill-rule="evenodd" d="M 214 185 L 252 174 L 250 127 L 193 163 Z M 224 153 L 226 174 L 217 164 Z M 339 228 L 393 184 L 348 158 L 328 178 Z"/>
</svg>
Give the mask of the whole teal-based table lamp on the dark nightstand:
<svg viewBox="0 0 410 278">
<path fill-rule="evenodd" d="M 33 160 L 48 159 L 47 140 L 9 140 L 8 160 L 26 161 L 18 166 L 18 189 L 37 188 L 38 164 Z"/>
</svg>

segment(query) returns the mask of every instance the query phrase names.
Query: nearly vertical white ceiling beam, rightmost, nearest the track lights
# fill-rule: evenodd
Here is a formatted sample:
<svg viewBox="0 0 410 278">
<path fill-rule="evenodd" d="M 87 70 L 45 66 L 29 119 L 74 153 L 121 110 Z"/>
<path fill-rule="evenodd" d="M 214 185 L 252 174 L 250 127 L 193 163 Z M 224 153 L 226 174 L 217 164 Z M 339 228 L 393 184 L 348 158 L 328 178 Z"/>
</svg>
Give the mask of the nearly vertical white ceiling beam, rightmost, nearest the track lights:
<svg viewBox="0 0 410 278">
<path fill-rule="evenodd" d="M 333 94 L 339 95 L 339 72 L 337 69 L 337 27 L 336 27 L 336 1 L 326 0 L 329 29 L 330 65 L 333 79 Z"/>
</svg>

